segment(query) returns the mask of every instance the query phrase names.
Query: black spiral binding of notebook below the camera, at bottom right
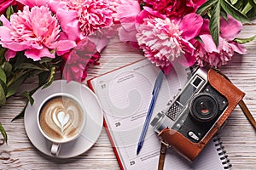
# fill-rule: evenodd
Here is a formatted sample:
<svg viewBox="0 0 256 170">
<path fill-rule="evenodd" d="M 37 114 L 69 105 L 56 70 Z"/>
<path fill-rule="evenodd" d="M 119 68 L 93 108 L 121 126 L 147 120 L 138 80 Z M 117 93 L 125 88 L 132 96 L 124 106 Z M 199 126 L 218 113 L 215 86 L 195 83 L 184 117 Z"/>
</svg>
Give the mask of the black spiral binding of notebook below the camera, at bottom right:
<svg viewBox="0 0 256 170">
<path fill-rule="evenodd" d="M 220 160 L 224 165 L 224 169 L 231 169 L 232 165 L 230 163 L 230 159 L 228 158 L 226 150 L 224 150 L 224 145 L 220 141 L 220 137 L 215 136 L 213 142 L 216 146 L 216 150 L 218 151 L 218 156 L 220 156 Z"/>
</svg>

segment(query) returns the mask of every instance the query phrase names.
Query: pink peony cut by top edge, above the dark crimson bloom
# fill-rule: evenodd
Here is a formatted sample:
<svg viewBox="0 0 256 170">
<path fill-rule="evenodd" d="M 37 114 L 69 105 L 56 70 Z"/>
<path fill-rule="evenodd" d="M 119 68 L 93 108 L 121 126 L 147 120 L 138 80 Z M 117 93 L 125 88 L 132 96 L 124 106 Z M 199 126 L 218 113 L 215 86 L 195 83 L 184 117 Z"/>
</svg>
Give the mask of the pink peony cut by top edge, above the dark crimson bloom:
<svg viewBox="0 0 256 170">
<path fill-rule="evenodd" d="M 91 40 L 97 44 L 98 52 L 106 47 L 108 33 L 113 32 L 111 28 L 111 32 L 106 29 L 113 24 L 113 4 L 104 0 L 49 0 L 48 3 L 67 39 L 79 42 L 93 34 L 95 37 Z"/>
</svg>

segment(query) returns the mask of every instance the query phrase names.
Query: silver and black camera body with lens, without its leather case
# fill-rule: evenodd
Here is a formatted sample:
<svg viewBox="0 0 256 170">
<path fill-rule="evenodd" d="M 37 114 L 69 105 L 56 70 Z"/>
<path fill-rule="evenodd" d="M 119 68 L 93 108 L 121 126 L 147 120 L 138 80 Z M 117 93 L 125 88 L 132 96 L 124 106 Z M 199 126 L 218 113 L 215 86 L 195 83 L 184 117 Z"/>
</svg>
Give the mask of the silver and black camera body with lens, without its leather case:
<svg viewBox="0 0 256 170">
<path fill-rule="evenodd" d="M 167 108 L 150 123 L 156 133 L 166 127 L 198 143 L 214 126 L 228 106 L 227 99 L 208 82 L 207 68 L 197 67 Z"/>
</svg>

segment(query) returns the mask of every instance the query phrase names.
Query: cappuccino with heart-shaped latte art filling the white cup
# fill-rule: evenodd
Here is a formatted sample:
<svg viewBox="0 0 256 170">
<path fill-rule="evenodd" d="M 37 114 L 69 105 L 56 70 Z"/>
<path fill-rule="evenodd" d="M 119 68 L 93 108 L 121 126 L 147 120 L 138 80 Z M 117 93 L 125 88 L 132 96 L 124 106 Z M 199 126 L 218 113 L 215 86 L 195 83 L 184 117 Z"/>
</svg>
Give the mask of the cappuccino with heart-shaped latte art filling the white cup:
<svg viewBox="0 0 256 170">
<path fill-rule="evenodd" d="M 41 107 L 39 125 L 51 141 L 67 142 L 76 138 L 84 127 L 84 110 L 70 97 L 55 96 Z"/>
</svg>

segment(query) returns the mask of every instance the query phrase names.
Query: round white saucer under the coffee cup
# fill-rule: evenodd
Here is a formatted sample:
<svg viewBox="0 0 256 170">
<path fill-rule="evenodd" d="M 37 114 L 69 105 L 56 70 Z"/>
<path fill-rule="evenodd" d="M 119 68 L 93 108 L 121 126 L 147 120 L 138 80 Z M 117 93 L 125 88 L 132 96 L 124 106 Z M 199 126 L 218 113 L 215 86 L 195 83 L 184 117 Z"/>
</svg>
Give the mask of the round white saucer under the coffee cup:
<svg viewBox="0 0 256 170">
<path fill-rule="evenodd" d="M 32 144 L 41 152 L 48 156 L 52 156 L 49 152 L 51 142 L 45 139 L 40 133 L 37 125 L 37 111 L 42 101 L 50 94 L 68 93 L 75 96 L 81 101 L 86 110 L 86 122 L 82 134 L 78 139 L 73 140 L 67 144 L 61 144 L 59 158 L 70 158 L 79 156 L 96 143 L 100 133 L 102 132 L 103 114 L 102 107 L 93 94 L 90 88 L 82 85 L 79 82 L 66 82 L 66 80 L 58 80 L 53 82 L 48 88 L 38 89 L 32 97 L 34 99 L 33 105 L 27 105 L 24 122 L 28 138 Z"/>
</svg>

